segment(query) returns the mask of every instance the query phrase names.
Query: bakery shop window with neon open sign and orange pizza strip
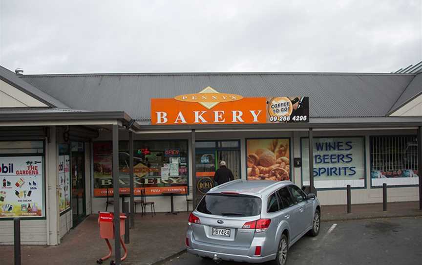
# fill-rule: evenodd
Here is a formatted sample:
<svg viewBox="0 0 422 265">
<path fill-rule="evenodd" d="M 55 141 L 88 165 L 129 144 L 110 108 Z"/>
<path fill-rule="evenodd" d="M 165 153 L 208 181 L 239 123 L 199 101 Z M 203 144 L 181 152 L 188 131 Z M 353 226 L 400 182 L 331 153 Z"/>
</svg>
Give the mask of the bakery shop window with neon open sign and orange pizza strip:
<svg viewBox="0 0 422 265">
<path fill-rule="evenodd" d="M 129 148 L 127 141 L 119 142 L 120 192 L 129 192 Z M 94 142 L 94 195 L 112 192 L 112 144 Z M 161 195 L 166 190 L 187 192 L 188 141 L 134 141 L 134 192 L 140 195 Z"/>
</svg>

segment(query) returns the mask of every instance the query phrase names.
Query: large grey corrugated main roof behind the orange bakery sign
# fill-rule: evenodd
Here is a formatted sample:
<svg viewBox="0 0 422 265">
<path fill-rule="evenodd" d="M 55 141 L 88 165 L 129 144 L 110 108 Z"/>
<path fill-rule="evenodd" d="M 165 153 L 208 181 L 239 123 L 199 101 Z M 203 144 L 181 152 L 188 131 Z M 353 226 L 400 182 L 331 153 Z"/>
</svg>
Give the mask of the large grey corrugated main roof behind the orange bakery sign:
<svg viewBox="0 0 422 265">
<path fill-rule="evenodd" d="M 244 97 L 309 96 L 312 117 L 385 116 L 414 75 L 345 73 L 181 73 L 24 75 L 21 79 L 74 109 L 124 110 L 150 118 L 150 98 L 211 86 Z"/>
</svg>

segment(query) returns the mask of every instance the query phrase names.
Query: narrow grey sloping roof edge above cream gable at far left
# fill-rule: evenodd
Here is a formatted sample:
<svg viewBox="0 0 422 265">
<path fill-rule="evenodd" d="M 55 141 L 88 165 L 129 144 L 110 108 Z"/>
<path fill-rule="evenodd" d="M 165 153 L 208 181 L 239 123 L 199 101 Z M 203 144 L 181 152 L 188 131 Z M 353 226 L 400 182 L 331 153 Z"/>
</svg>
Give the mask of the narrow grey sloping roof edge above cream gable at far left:
<svg viewBox="0 0 422 265">
<path fill-rule="evenodd" d="M 51 95 L 46 94 L 40 89 L 35 88 L 34 86 L 26 83 L 21 78 L 18 78 L 18 76 L 14 72 L 4 68 L 3 66 L 0 66 L 0 79 L 10 84 L 11 86 L 22 90 L 23 92 L 38 99 L 39 101 L 45 103 L 50 107 L 69 109 L 68 106 L 66 106 L 59 100 L 55 99 Z"/>
</svg>

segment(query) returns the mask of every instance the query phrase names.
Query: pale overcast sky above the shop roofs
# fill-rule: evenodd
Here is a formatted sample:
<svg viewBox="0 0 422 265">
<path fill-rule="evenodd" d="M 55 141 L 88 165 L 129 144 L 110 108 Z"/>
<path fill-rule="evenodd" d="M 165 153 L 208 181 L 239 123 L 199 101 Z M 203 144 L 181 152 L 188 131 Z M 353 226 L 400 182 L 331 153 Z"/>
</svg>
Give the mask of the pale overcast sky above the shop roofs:
<svg viewBox="0 0 422 265">
<path fill-rule="evenodd" d="M 390 72 L 422 0 L 0 0 L 0 65 L 30 73 Z"/>
</svg>

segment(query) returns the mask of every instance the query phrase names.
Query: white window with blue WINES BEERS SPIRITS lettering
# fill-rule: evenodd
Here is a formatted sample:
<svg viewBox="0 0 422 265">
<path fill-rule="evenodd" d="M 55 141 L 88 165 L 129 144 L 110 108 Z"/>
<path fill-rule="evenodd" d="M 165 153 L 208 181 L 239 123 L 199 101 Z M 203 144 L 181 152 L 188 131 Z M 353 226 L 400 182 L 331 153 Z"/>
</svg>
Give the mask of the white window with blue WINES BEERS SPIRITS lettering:
<svg viewBox="0 0 422 265">
<path fill-rule="evenodd" d="M 302 181 L 309 185 L 309 140 L 302 138 Z M 365 186 L 363 137 L 314 138 L 314 185 L 317 189 Z"/>
</svg>

